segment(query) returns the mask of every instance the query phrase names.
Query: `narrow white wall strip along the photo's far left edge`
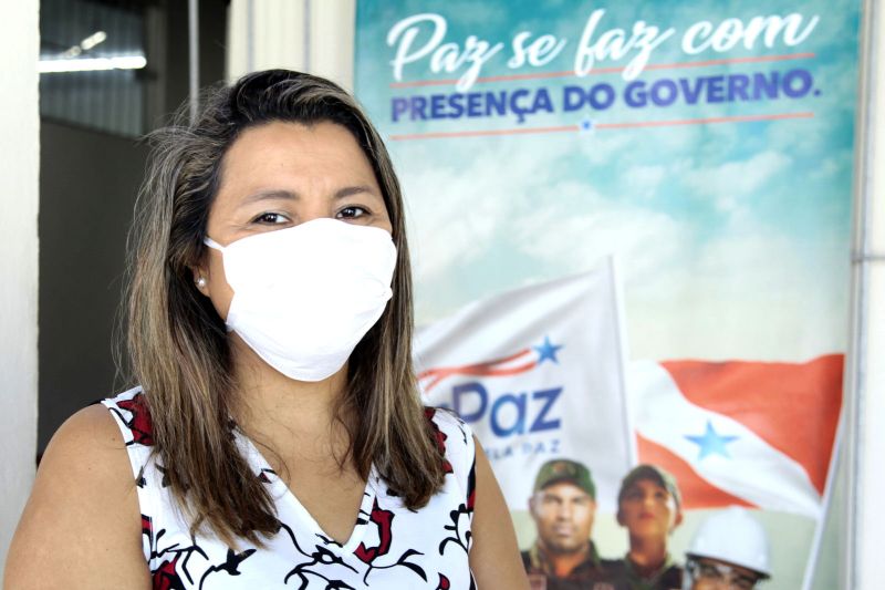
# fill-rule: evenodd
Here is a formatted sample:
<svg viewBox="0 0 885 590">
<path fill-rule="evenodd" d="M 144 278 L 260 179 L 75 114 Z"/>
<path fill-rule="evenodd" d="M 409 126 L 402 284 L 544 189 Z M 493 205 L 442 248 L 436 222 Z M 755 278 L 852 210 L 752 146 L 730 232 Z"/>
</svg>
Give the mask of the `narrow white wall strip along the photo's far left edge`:
<svg viewBox="0 0 885 590">
<path fill-rule="evenodd" d="M 0 55 L 0 578 L 37 454 L 39 1 L 3 4 Z"/>
</svg>

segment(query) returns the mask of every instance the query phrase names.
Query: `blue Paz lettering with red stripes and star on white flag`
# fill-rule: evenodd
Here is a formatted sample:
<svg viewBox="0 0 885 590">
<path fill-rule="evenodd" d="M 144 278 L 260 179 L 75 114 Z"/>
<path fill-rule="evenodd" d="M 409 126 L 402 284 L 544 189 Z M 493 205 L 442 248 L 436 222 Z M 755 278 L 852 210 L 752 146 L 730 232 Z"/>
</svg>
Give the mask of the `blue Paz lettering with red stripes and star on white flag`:
<svg viewBox="0 0 885 590">
<path fill-rule="evenodd" d="M 488 418 L 496 436 L 553 431 L 562 424 L 553 417 L 562 386 L 539 389 L 537 380 L 530 384 L 525 377 L 542 364 L 560 364 L 558 354 L 563 348 L 544 337 L 542 342 L 500 359 L 428 369 L 418 374 L 418 383 L 434 403 L 455 410 L 465 422 Z M 441 386 L 447 383 L 451 384 L 448 391 Z"/>
</svg>

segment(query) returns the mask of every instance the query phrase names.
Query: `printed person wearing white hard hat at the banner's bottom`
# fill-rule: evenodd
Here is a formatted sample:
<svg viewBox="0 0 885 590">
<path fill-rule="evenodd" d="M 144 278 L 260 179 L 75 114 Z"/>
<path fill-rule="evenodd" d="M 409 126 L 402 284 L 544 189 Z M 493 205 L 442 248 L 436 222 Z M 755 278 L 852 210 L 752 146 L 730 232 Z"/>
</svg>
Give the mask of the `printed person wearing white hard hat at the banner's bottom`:
<svg viewBox="0 0 885 590">
<path fill-rule="evenodd" d="M 684 590 L 752 590 L 771 577 L 766 529 L 743 508 L 705 520 L 686 551 Z"/>
</svg>

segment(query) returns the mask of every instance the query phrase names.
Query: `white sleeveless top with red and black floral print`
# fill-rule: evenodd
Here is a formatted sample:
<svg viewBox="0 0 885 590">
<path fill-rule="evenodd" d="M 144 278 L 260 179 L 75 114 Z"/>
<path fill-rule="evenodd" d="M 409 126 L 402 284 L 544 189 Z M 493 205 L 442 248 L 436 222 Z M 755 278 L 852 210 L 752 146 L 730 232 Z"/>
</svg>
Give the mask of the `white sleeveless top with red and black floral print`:
<svg viewBox="0 0 885 590">
<path fill-rule="evenodd" d="M 154 588 L 302 590 L 383 588 L 472 589 L 468 563 L 473 516 L 476 449 L 469 427 L 445 411 L 426 415 L 445 448 L 445 485 L 424 508 L 409 510 L 373 469 L 356 526 L 343 546 L 323 532 L 254 445 L 233 429 L 237 444 L 277 500 L 280 531 L 263 548 L 244 539 L 230 548 L 216 537 L 189 534 L 152 453 L 150 416 L 133 389 L 102 402 L 123 433 L 142 510 L 142 541 Z"/>
</svg>

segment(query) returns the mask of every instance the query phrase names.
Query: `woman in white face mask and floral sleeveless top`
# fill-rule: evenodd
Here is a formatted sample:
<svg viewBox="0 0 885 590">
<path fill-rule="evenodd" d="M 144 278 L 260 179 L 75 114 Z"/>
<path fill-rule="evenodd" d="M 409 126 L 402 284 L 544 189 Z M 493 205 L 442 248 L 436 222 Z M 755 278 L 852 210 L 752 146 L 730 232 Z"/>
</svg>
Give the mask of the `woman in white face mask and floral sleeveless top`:
<svg viewBox="0 0 885 590">
<path fill-rule="evenodd" d="M 155 139 L 140 385 L 55 434 L 4 587 L 528 588 L 481 448 L 416 393 L 399 186 L 353 99 L 259 72 Z"/>
</svg>

